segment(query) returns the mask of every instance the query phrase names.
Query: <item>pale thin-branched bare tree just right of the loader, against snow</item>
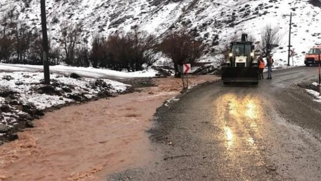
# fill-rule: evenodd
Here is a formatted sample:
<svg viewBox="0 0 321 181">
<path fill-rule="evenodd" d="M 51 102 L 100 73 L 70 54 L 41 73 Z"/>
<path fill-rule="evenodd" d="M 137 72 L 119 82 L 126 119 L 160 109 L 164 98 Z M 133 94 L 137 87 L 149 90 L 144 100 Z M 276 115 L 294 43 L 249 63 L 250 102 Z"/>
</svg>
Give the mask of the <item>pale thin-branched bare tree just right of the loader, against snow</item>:
<svg viewBox="0 0 321 181">
<path fill-rule="evenodd" d="M 260 50 L 265 56 L 270 55 L 272 50 L 279 46 L 282 38 L 279 31 L 279 27 L 271 27 L 271 24 L 262 28 Z"/>
</svg>

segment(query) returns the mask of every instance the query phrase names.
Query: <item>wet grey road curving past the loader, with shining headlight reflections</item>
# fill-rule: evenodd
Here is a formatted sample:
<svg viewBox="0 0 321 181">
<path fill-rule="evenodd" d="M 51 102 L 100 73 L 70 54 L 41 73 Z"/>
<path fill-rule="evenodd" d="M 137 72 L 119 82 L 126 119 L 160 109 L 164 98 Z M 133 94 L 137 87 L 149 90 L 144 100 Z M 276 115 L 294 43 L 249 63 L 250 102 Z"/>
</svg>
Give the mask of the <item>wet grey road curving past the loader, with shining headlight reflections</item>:
<svg viewBox="0 0 321 181">
<path fill-rule="evenodd" d="M 321 180 L 321 103 L 296 86 L 313 78 L 316 67 L 300 67 L 259 86 L 192 89 L 156 113 L 160 158 L 106 179 Z"/>
</svg>

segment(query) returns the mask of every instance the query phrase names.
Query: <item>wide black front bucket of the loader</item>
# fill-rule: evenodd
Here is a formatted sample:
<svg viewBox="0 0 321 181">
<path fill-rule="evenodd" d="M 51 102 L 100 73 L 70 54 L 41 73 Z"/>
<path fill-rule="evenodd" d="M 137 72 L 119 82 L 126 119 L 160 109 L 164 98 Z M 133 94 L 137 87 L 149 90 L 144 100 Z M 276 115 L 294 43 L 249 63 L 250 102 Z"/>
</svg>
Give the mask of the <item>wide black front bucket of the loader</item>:
<svg viewBox="0 0 321 181">
<path fill-rule="evenodd" d="M 226 82 L 258 82 L 258 68 L 254 67 L 224 67 L 222 81 Z"/>
</svg>

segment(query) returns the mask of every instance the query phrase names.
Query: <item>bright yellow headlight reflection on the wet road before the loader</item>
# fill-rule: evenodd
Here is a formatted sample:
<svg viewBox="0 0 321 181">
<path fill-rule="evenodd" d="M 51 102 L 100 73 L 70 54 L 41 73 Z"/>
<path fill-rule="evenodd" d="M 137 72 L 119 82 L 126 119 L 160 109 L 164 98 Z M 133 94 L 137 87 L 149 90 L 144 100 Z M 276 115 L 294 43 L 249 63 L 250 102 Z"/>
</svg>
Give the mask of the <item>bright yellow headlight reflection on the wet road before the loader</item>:
<svg viewBox="0 0 321 181">
<path fill-rule="evenodd" d="M 258 125 L 263 120 L 259 97 L 224 94 L 216 103 L 220 104 L 215 112 L 223 124 L 226 148 L 230 150 L 247 145 L 249 149 L 256 149 Z"/>
</svg>

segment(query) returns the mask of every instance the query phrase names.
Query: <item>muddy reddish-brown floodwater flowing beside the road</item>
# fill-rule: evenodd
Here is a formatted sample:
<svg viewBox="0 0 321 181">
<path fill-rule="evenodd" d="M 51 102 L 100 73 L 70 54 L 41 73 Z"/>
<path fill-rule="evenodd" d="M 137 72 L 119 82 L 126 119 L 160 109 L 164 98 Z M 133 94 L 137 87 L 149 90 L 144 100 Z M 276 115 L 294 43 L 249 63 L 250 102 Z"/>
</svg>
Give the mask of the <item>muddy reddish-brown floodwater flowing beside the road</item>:
<svg viewBox="0 0 321 181">
<path fill-rule="evenodd" d="M 189 78 L 189 85 L 218 79 Z M 181 91 L 181 79 L 154 79 L 157 87 L 47 113 L 19 140 L 0 147 L 0 180 L 101 180 L 144 165 L 157 153 L 146 130 L 156 109 Z"/>
</svg>

